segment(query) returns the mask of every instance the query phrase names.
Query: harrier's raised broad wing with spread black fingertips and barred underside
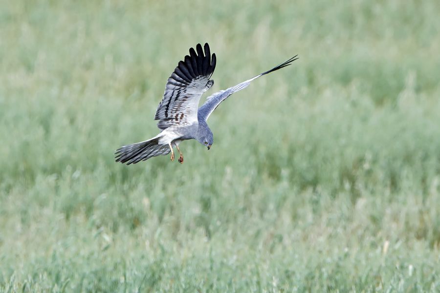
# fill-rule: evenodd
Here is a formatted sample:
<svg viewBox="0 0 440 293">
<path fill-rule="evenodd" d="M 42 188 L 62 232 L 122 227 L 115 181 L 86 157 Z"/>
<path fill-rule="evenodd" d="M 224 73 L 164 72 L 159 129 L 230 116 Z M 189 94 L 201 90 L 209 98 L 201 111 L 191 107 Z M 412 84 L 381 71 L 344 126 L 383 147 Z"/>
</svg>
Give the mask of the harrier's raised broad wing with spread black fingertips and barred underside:
<svg viewBox="0 0 440 293">
<path fill-rule="evenodd" d="M 213 84 L 209 78 L 216 68 L 216 54 L 212 54 L 205 43 L 205 52 L 200 44 L 196 50 L 180 61 L 168 79 L 165 93 L 157 106 L 154 120 L 157 127 L 165 129 L 174 125 L 191 125 L 198 122 L 197 110 L 201 95 Z"/>
</svg>

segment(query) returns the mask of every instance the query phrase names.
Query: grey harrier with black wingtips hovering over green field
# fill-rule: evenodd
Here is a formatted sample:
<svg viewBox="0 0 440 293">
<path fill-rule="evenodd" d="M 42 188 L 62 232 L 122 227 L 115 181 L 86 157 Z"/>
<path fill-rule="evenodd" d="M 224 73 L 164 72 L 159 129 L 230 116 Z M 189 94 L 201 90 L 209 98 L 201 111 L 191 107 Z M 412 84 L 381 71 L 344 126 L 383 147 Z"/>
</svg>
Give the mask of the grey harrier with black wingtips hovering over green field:
<svg viewBox="0 0 440 293">
<path fill-rule="evenodd" d="M 216 54 L 211 55 L 207 43 L 204 45 L 204 52 L 202 46 L 197 44 L 196 50 L 191 48 L 189 53 L 190 55 L 186 55 L 171 74 L 163 99 L 157 106 L 154 120 L 159 120 L 157 127 L 160 133 L 144 142 L 117 149 L 116 162 L 127 163 L 127 165 L 136 164 L 151 157 L 167 155 L 170 152 L 171 161 L 174 161 L 173 147 L 176 146 L 180 154 L 178 161 L 182 164 L 183 154 L 179 144 L 189 139 L 196 139 L 209 150 L 214 139 L 206 120 L 212 111 L 227 97 L 247 87 L 253 80 L 286 67 L 298 59 L 296 55 L 241 84 L 220 90 L 209 96 L 206 102 L 198 108 L 201 95 L 214 84 L 210 78 L 216 68 Z"/>
</svg>

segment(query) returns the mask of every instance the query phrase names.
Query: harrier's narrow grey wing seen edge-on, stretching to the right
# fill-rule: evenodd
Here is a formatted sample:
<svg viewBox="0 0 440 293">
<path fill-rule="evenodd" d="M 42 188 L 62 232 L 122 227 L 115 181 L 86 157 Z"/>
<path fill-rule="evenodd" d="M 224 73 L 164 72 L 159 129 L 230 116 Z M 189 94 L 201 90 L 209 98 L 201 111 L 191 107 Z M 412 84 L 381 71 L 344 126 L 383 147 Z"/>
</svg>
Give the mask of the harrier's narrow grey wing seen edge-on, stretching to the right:
<svg viewBox="0 0 440 293">
<path fill-rule="evenodd" d="M 283 67 L 286 67 L 297 59 L 298 59 L 298 55 L 290 58 L 286 62 L 281 63 L 266 72 L 263 72 L 263 73 L 257 75 L 256 77 L 251 78 L 250 80 L 247 80 L 247 81 L 242 82 L 241 84 L 237 84 L 235 86 L 229 87 L 228 89 L 220 90 L 219 92 L 209 96 L 208 98 L 206 98 L 206 102 L 200 108 L 198 108 L 198 118 L 203 119 L 205 121 L 208 120 L 209 115 L 211 115 L 211 113 L 220 105 L 221 102 L 226 100 L 227 97 L 229 97 L 233 93 L 238 92 L 239 90 L 242 90 L 243 88 L 247 87 L 254 79 L 257 79 L 260 76 L 263 76 L 264 74 L 267 74 L 267 73 L 273 72 L 275 70 L 281 69 Z"/>
</svg>

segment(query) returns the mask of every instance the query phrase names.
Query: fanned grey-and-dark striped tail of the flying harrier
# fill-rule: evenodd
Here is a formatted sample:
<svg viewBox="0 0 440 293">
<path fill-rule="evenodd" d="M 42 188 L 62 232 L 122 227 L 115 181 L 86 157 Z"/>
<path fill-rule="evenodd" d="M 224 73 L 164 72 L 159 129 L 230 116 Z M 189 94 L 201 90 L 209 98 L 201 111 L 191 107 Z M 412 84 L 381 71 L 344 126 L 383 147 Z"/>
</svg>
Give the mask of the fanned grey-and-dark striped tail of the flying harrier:
<svg viewBox="0 0 440 293">
<path fill-rule="evenodd" d="M 168 145 L 159 145 L 159 138 L 154 137 L 145 142 L 122 146 L 114 154 L 116 155 L 116 162 L 130 165 L 145 161 L 151 157 L 169 154 L 170 151 Z"/>
</svg>

